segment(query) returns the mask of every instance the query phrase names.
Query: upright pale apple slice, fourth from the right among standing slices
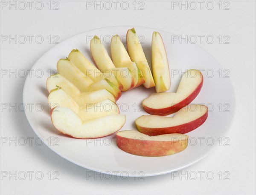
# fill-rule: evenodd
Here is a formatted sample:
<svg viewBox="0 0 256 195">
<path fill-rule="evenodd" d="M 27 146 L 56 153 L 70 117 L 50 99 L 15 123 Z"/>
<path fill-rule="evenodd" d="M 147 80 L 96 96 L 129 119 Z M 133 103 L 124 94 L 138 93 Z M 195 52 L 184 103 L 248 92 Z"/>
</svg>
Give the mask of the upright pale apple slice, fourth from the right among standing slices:
<svg viewBox="0 0 256 195">
<path fill-rule="evenodd" d="M 101 43 L 99 37 L 94 36 L 90 41 L 90 51 L 96 66 L 101 72 L 111 71 L 122 83 L 122 91 L 128 91 L 134 87 L 134 77 L 128 68 L 116 68 L 110 59 L 107 50 Z"/>
</svg>

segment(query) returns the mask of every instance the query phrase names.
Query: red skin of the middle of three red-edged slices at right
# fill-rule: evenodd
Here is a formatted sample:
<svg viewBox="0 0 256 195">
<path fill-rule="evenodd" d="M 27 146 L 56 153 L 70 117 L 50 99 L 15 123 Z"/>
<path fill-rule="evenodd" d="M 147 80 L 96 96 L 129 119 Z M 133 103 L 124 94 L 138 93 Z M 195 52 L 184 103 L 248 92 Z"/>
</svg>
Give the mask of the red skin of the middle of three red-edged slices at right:
<svg viewBox="0 0 256 195">
<path fill-rule="evenodd" d="M 208 117 L 208 110 L 200 118 L 193 120 L 189 123 L 185 123 L 178 126 L 171 126 L 171 127 L 164 127 L 164 128 L 148 128 L 148 127 L 136 125 L 136 127 L 139 132 L 149 136 L 156 136 L 156 135 L 163 135 L 163 134 L 170 134 L 170 133 L 185 134 L 201 126 L 205 122 L 207 117 Z"/>
</svg>

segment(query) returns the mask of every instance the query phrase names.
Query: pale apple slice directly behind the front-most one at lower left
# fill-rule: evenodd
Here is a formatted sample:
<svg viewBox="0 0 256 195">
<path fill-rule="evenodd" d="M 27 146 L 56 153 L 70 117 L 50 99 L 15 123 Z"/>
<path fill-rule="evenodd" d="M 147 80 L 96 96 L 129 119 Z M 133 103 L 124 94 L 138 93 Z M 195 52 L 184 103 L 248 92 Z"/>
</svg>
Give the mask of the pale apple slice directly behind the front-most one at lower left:
<svg viewBox="0 0 256 195">
<path fill-rule="evenodd" d="M 87 102 L 84 106 L 79 106 L 76 101 L 67 95 L 61 88 L 53 89 L 48 96 L 49 106 L 61 106 L 72 109 L 81 120 L 90 120 L 111 114 L 119 114 L 119 109 L 116 103 L 106 99 L 97 103 Z"/>
</svg>

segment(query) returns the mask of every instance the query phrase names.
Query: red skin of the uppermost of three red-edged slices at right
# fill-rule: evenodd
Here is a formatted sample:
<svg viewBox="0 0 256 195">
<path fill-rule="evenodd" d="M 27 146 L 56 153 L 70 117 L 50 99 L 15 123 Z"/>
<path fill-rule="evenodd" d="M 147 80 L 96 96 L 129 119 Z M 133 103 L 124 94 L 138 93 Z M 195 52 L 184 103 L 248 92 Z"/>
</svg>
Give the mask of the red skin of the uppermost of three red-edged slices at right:
<svg viewBox="0 0 256 195">
<path fill-rule="evenodd" d="M 180 109 L 189 105 L 189 103 L 191 103 L 195 99 L 195 97 L 201 91 L 203 83 L 204 83 L 204 78 L 202 77 L 202 81 L 198 85 L 198 87 L 195 89 L 195 91 L 192 92 L 188 97 L 186 97 L 186 99 L 182 100 L 181 102 L 179 102 L 173 106 L 169 106 L 167 108 L 162 108 L 162 109 L 153 109 L 153 108 L 149 108 L 143 104 L 143 109 L 148 114 L 159 115 L 159 116 L 166 116 L 166 115 L 170 115 L 172 113 L 178 112 Z"/>
</svg>

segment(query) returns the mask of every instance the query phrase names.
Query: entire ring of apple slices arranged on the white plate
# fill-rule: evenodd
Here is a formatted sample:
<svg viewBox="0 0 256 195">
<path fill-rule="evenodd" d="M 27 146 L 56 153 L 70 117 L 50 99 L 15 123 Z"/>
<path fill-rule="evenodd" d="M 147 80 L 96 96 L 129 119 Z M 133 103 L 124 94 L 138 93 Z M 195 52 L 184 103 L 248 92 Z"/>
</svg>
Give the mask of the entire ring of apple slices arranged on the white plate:
<svg viewBox="0 0 256 195">
<path fill-rule="evenodd" d="M 152 34 L 151 74 L 135 29 L 126 36 L 127 50 L 119 35 L 111 40 L 111 57 L 99 37 L 90 41 L 96 64 L 78 49 L 57 63 L 58 74 L 47 79 L 48 103 L 52 123 L 58 131 L 74 138 L 100 138 L 119 131 L 126 116 L 119 114 L 116 100 L 122 91 L 143 84 L 156 92 L 143 100 L 145 112 L 135 121 L 138 131 L 116 133 L 117 146 L 140 156 L 166 156 L 187 147 L 183 135 L 201 126 L 208 117 L 207 106 L 189 105 L 203 86 L 203 75 L 196 69 L 186 71 L 176 93 L 170 88 L 169 64 L 163 39 Z M 164 93 L 163 93 L 164 92 Z M 175 113 L 176 112 L 176 113 Z M 165 117 L 175 113 L 173 117 Z"/>
</svg>

